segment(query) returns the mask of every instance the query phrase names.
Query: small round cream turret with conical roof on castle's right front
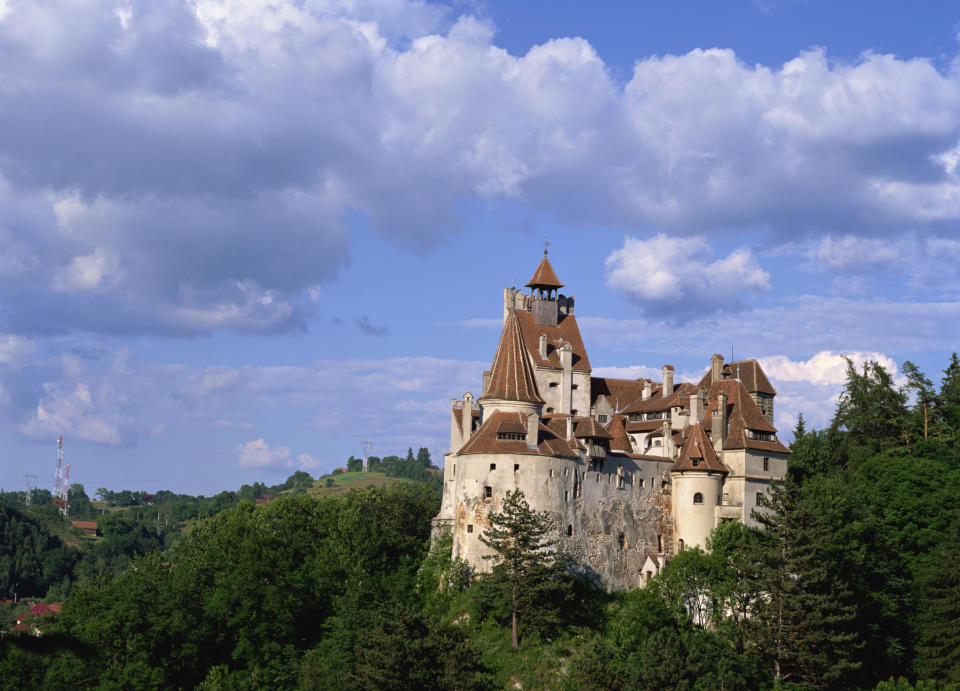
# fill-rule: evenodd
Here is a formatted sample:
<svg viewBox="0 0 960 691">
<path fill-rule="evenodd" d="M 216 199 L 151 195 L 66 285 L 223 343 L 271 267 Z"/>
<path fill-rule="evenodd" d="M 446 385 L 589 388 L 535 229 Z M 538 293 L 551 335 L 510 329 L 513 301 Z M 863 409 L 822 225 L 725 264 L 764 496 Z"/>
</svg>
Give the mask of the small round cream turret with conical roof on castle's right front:
<svg viewBox="0 0 960 691">
<path fill-rule="evenodd" d="M 728 473 L 703 425 L 688 428 L 677 462 L 670 469 L 675 550 L 706 549 L 707 537 L 717 523 L 717 506 Z"/>
</svg>

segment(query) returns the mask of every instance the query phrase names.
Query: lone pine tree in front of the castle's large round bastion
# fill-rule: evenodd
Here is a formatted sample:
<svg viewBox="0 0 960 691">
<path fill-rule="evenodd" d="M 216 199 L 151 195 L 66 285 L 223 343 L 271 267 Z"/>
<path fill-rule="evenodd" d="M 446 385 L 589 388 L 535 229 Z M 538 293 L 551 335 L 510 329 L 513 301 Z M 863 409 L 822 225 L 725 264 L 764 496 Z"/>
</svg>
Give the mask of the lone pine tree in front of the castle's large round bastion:
<svg viewBox="0 0 960 691">
<path fill-rule="evenodd" d="M 563 560 L 548 537 L 553 529 L 545 512 L 530 508 L 523 492 L 507 492 L 503 509 L 490 516 L 490 527 L 480 541 L 493 550 L 484 558 L 494 562 L 481 588 L 498 595 L 510 613 L 513 647 L 520 645 L 519 624 L 525 616 L 543 616 L 545 601 L 556 599 L 564 581 Z M 541 610 L 541 611 L 538 611 Z"/>
</svg>

